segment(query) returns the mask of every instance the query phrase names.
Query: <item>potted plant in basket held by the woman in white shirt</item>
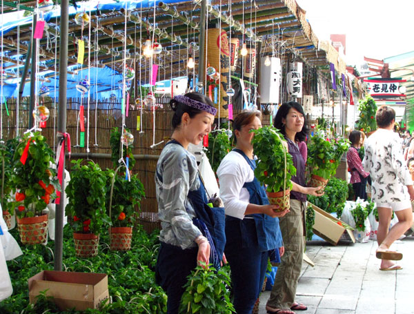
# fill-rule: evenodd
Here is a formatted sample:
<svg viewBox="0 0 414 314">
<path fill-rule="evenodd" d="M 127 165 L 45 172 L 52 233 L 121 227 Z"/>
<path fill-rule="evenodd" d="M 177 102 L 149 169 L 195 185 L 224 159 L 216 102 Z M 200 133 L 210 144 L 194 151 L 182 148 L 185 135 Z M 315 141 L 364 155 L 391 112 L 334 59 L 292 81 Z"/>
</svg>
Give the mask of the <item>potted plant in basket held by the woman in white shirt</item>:
<svg viewBox="0 0 414 314">
<path fill-rule="evenodd" d="M 253 153 L 258 158 L 255 176 L 266 184 L 270 204 L 279 205 L 279 210 L 289 208 L 290 178 L 296 174 L 292 156 L 284 145 L 284 137 L 276 128 L 264 126 L 253 130 Z"/>
</svg>

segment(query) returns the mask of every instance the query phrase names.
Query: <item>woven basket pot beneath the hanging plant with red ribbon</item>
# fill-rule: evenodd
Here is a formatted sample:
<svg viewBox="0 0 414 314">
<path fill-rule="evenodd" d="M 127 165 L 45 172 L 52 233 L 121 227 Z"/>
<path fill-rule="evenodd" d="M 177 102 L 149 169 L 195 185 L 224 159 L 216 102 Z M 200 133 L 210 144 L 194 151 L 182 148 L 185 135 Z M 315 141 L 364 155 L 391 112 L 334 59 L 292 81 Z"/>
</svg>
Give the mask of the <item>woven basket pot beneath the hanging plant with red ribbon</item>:
<svg viewBox="0 0 414 314">
<path fill-rule="evenodd" d="M 48 215 L 17 217 L 17 229 L 23 244 L 45 243 L 48 239 L 48 226 Z"/>
</svg>

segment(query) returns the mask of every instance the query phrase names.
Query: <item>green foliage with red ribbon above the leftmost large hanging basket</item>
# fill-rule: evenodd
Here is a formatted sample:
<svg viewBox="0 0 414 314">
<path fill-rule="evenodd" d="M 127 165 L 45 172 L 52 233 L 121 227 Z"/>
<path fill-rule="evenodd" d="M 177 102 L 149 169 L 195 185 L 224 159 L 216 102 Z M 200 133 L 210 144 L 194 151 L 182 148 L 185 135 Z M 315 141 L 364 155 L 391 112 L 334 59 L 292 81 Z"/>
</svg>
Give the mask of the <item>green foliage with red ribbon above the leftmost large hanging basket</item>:
<svg viewBox="0 0 414 314">
<path fill-rule="evenodd" d="M 29 141 L 28 157 L 23 165 L 20 159 Z M 8 211 L 13 213 L 17 208 L 19 217 L 41 215 L 50 199 L 57 197 L 55 191 L 60 190 L 59 181 L 52 179 L 56 176 L 56 170 L 50 168 L 50 164 L 55 164 L 53 151 L 41 133 L 27 133 L 17 145 L 11 162 L 13 170 L 8 184 L 15 194 L 13 202 L 8 202 Z"/>
</svg>

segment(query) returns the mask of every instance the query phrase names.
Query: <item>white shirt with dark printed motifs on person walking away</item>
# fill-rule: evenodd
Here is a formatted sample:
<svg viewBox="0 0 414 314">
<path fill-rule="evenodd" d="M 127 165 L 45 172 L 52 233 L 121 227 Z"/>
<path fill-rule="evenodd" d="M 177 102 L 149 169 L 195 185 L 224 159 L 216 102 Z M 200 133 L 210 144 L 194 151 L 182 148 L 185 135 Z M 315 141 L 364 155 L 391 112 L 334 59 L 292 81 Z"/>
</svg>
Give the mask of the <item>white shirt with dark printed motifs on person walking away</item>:
<svg viewBox="0 0 414 314">
<path fill-rule="evenodd" d="M 376 203 L 410 199 L 406 186 L 413 180 L 402 155 L 402 139 L 392 130 L 379 128 L 365 141 L 363 166 L 373 181 L 372 198 Z"/>
</svg>

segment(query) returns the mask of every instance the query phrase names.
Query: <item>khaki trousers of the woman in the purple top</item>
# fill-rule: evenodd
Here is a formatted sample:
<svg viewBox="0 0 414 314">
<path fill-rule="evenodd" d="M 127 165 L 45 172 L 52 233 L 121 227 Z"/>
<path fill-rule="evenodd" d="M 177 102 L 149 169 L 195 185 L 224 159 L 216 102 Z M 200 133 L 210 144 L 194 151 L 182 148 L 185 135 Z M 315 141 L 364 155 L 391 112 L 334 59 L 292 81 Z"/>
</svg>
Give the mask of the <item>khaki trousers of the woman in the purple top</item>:
<svg viewBox="0 0 414 314">
<path fill-rule="evenodd" d="M 295 302 L 304 255 L 304 210 L 304 202 L 290 199 L 290 212 L 279 218 L 285 252 L 277 267 L 275 284 L 267 302 L 270 307 L 290 308 Z"/>
</svg>

